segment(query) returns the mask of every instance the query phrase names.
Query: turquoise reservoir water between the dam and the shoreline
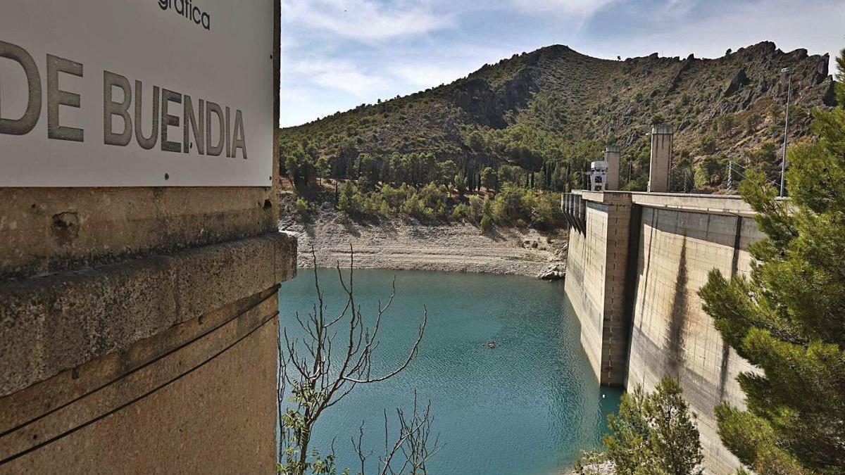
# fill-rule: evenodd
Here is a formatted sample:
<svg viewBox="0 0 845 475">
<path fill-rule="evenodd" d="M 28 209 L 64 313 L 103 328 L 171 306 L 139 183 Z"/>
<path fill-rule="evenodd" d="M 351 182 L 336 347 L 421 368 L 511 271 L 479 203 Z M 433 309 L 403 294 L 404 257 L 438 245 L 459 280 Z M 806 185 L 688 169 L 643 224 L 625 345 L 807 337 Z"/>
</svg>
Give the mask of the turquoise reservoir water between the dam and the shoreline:
<svg viewBox="0 0 845 475">
<path fill-rule="evenodd" d="M 347 271 L 348 272 L 348 271 Z M 423 305 L 428 326 L 419 355 L 404 373 L 359 385 L 330 407 L 313 447 L 334 439 L 338 467 L 358 467 L 351 437 L 365 421 L 365 449 L 384 450 L 384 409 L 408 408 L 413 390 L 431 400 L 433 432 L 444 447 L 428 464 L 435 475 L 549 475 L 571 467 L 581 450 L 600 445 L 619 391 L 602 388 L 581 348 L 578 321 L 564 314 L 560 283 L 528 277 L 428 271 L 356 270 L 364 314 L 379 298 L 396 297 L 385 314 L 373 366 L 401 364 L 417 334 Z M 330 314 L 346 300 L 336 270 L 319 270 Z M 313 270 L 281 286 L 280 317 L 301 335 L 294 314 L 315 301 Z M 342 338 L 342 336 L 341 336 Z M 496 347 L 484 343 L 495 340 Z M 392 424 L 391 424 L 392 425 Z"/>
</svg>

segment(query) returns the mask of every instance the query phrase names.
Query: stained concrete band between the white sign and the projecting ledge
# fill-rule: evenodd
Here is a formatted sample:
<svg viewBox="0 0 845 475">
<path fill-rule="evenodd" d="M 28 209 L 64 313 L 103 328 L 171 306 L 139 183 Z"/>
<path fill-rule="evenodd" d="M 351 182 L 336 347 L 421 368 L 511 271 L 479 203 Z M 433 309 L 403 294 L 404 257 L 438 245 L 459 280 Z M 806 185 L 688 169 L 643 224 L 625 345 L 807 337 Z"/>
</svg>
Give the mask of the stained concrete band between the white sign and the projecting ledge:
<svg viewBox="0 0 845 475">
<path fill-rule="evenodd" d="M 0 188 L 0 281 L 275 231 L 273 188 Z"/>
</svg>

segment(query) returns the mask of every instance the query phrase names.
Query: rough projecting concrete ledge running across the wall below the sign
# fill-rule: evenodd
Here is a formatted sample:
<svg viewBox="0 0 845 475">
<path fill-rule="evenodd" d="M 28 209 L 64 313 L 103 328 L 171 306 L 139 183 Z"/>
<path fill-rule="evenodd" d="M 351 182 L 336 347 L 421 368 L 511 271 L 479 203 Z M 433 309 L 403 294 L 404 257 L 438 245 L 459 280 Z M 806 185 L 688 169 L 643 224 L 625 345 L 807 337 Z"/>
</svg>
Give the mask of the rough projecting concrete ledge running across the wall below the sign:
<svg viewBox="0 0 845 475">
<path fill-rule="evenodd" d="M 296 247 L 274 232 L 0 285 L 0 396 L 290 279 Z"/>
</svg>

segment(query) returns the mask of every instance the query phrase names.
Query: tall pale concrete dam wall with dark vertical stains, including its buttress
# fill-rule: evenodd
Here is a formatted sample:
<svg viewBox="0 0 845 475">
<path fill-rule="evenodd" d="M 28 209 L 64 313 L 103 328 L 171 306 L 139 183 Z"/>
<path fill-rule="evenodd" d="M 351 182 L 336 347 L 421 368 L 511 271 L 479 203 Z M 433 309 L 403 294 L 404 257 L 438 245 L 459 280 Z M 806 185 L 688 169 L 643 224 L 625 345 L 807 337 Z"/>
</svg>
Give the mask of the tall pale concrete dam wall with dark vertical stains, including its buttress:
<svg viewBox="0 0 845 475">
<path fill-rule="evenodd" d="M 713 409 L 743 407 L 736 376 L 755 369 L 723 344 L 698 290 L 714 268 L 750 271 L 748 247 L 762 238 L 753 211 L 732 196 L 579 191 L 564 196 L 567 215 L 578 199 L 586 213 L 582 229 L 570 229 L 565 292 L 593 369 L 603 385 L 628 389 L 679 379 L 707 472 L 733 473 L 739 461 L 722 446 Z"/>
</svg>

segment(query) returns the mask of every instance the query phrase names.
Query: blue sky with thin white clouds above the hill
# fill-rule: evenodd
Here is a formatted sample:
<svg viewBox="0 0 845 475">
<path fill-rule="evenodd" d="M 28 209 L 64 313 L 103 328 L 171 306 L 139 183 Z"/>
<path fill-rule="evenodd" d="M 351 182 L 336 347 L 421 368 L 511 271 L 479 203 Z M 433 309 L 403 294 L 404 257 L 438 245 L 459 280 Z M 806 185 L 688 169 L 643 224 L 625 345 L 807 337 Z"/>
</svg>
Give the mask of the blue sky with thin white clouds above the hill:
<svg viewBox="0 0 845 475">
<path fill-rule="evenodd" d="M 845 0 L 281 0 L 281 125 L 449 83 L 552 44 L 595 57 L 845 46 Z M 832 60 L 831 60 L 831 73 Z"/>
</svg>

